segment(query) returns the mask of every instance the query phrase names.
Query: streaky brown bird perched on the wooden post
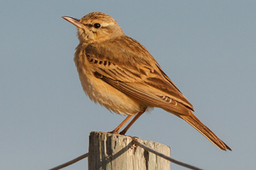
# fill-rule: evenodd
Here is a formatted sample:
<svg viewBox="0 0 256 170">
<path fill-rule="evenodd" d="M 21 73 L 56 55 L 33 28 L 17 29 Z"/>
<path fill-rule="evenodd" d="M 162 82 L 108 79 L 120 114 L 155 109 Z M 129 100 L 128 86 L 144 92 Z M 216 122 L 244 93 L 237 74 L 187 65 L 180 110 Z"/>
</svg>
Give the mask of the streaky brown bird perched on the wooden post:
<svg viewBox="0 0 256 170">
<path fill-rule="evenodd" d="M 193 114 L 194 107 L 137 40 L 126 36 L 115 19 L 91 12 L 81 19 L 63 16 L 78 29 L 74 53 L 81 86 L 95 103 L 127 115 L 112 134 L 126 134 L 150 108 L 159 107 L 188 122 L 218 148 L 231 148 Z M 134 117 L 133 117 L 134 116 Z M 121 128 L 133 117 L 123 131 Z"/>
</svg>

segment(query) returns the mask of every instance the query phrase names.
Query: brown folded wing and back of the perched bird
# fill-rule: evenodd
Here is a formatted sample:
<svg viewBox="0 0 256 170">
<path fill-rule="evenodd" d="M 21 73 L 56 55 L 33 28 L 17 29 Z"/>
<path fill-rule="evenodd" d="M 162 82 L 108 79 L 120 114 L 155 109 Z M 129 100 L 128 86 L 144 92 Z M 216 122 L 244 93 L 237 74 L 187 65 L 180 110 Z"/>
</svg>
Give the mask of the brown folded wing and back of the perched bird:
<svg viewBox="0 0 256 170">
<path fill-rule="evenodd" d="M 144 46 L 130 37 L 92 43 L 85 49 L 96 77 L 152 107 L 188 115 L 192 104 Z"/>
</svg>

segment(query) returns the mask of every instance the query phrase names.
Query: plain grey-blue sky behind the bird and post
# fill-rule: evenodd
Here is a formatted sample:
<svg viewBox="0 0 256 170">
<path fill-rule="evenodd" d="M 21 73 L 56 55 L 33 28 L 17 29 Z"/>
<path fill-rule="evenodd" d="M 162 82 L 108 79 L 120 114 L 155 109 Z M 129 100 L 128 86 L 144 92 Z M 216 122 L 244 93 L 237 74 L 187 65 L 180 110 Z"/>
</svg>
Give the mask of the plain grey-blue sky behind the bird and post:
<svg viewBox="0 0 256 170">
<path fill-rule="evenodd" d="M 124 116 L 94 104 L 74 66 L 80 19 L 106 12 L 157 59 L 195 115 L 233 151 L 221 151 L 173 114 L 143 114 L 126 133 L 171 148 L 204 169 L 254 169 L 255 1 L 0 2 L 0 169 L 49 169 L 88 152 L 91 131 Z M 88 169 L 88 159 L 64 169 Z M 185 169 L 171 164 L 171 169 Z"/>
</svg>

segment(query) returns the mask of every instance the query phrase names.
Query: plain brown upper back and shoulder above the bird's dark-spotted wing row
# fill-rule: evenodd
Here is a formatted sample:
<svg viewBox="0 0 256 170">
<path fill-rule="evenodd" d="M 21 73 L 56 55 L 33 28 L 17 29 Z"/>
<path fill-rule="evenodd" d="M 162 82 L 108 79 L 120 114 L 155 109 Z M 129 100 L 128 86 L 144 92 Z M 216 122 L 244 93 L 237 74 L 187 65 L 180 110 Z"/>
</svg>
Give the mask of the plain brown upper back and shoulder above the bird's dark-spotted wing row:
<svg viewBox="0 0 256 170">
<path fill-rule="evenodd" d="M 85 48 L 88 59 L 107 60 L 118 66 L 130 66 L 137 69 L 138 66 L 155 67 L 155 59 L 147 49 L 128 36 L 119 36 L 104 42 L 93 42 Z"/>
</svg>

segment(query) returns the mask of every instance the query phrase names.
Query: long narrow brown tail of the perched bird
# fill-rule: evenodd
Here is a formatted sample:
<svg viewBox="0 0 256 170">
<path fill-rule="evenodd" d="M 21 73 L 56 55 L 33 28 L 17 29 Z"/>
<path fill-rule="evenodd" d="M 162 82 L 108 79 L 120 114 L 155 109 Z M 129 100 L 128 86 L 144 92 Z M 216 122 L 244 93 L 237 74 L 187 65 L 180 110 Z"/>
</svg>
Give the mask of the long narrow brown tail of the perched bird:
<svg viewBox="0 0 256 170">
<path fill-rule="evenodd" d="M 213 142 L 213 144 L 216 145 L 218 148 L 224 151 L 226 151 L 227 149 L 231 151 L 228 145 L 221 141 L 220 138 L 216 136 L 216 134 L 213 134 L 213 131 L 209 130 L 209 128 L 207 128 L 206 125 L 202 124 L 202 121 L 195 117 L 195 114 L 193 114 L 192 111 L 190 112 L 190 115 L 179 114 L 178 117 L 181 117 L 183 120 L 192 125 L 192 127 L 194 127 L 197 131 L 199 131 L 206 138 L 208 138 L 209 141 Z"/>
</svg>

